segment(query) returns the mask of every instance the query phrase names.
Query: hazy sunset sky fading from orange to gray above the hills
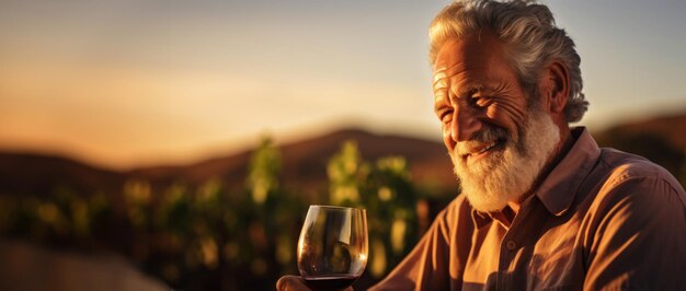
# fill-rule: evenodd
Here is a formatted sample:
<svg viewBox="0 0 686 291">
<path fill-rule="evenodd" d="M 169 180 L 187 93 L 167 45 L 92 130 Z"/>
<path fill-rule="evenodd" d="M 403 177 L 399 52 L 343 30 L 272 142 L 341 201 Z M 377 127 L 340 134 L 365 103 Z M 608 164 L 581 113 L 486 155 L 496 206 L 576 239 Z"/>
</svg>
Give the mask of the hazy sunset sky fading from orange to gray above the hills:
<svg viewBox="0 0 686 291">
<path fill-rule="evenodd" d="M 0 1 L 0 150 L 185 163 L 342 127 L 439 138 L 426 27 L 449 1 Z M 582 125 L 686 110 L 686 1 L 544 1 Z"/>
</svg>

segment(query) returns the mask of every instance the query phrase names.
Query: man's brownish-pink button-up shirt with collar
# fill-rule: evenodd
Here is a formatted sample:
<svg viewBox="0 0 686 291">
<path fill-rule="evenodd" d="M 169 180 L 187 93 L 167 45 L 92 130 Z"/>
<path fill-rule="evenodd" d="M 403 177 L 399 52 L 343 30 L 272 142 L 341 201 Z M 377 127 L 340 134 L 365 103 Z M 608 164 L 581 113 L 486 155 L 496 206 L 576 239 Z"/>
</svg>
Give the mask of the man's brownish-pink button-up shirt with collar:
<svg viewBox="0 0 686 291">
<path fill-rule="evenodd" d="M 686 194 L 583 128 L 516 216 L 458 196 L 373 290 L 686 290 Z"/>
</svg>

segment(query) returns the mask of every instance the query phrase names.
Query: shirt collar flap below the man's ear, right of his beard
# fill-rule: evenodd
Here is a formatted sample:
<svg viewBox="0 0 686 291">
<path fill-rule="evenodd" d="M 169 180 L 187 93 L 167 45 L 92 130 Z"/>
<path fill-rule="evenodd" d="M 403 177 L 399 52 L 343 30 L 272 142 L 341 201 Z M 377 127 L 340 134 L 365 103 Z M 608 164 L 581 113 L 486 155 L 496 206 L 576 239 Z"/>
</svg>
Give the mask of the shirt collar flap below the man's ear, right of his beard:
<svg viewBox="0 0 686 291">
<path fill-rule="evenodd" d="M 585 127 L 573 128 L 572 136 L 578 137 L 572 149 L 535 191 L 546 209 L 558 217 L 569 210 L 579 187 L 601 156 L 601 149 Z"/>
</svg>

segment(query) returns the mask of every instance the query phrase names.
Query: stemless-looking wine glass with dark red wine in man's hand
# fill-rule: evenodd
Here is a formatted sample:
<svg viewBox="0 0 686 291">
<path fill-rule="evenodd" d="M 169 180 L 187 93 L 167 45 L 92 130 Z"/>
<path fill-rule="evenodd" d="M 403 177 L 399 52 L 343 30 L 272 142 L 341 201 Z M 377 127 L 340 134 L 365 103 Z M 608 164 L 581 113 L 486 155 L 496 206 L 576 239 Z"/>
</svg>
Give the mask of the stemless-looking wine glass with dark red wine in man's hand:
<svg viewBox="0 0 686 291">
<path fill-rule="evenodd" d="M 367 266 L 364 209 L 310 206 L 298 241 L 298 270 L 313 290 L 343 290 Z"/>
</svg>

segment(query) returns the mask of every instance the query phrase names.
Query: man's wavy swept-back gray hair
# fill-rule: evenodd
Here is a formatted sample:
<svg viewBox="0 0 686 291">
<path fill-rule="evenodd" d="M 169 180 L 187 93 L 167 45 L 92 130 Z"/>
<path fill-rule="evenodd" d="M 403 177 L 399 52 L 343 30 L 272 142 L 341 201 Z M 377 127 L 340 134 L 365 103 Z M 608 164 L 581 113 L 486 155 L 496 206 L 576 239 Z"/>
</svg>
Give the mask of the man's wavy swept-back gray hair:
<svg viewBox="0 0 686 291">
<path fill-rule="evenodd" d="M 574 42 L 564 30 L 554 25 L 552 13 L 544 4 L 526 0 L 464 0 L 448 4 L 428 28 L 431 63 L 435 62 L 438 50 L 447 40 L 459 39 L 483 28 L 491 30 L 506 45 L 507 59 L 522 85 L 529 91 L 536 88 L 544 66 L 552 60 L 562 62 L 570 74 L 564 115 L 568 123 L 581 120 L 588 108 L 588 102 L 581 92 L 581 58 Z"/>
</svg>

